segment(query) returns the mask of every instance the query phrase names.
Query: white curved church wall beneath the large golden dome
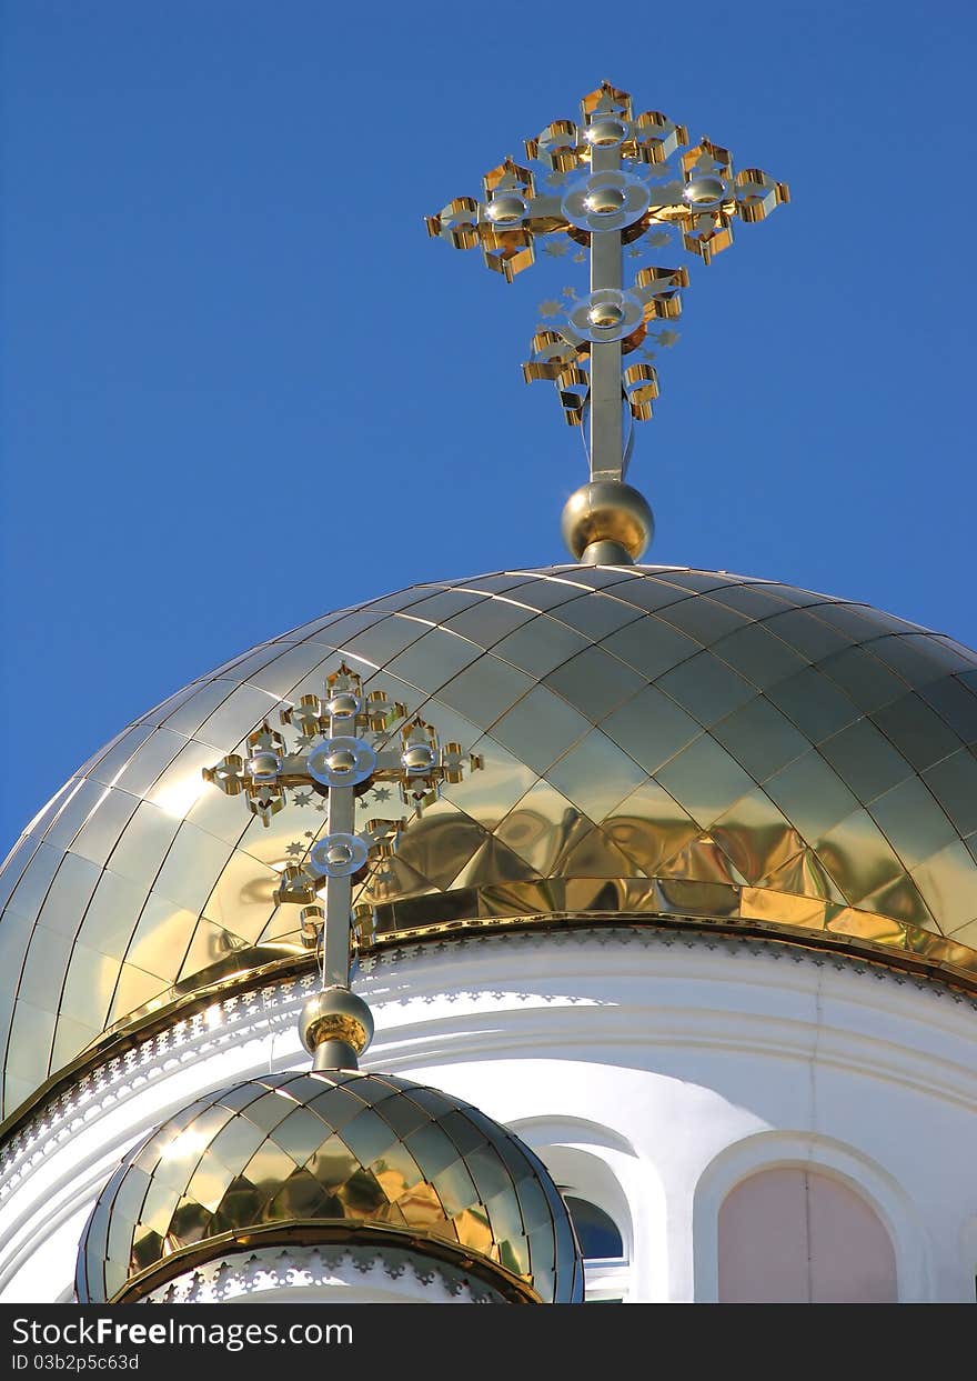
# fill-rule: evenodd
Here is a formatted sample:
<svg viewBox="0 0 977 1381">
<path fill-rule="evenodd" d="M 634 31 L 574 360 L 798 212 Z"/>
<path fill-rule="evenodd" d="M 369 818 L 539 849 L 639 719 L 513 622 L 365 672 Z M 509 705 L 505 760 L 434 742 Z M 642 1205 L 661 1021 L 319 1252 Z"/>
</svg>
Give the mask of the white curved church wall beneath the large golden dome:
<svg viewBox="0 0 977 1381">
<path fill-rule="evenodd" d="M 482 1106 L 557 1177 L 573 1155 L 575 1171 L 580 1157 L 600 1167 L 585 1197 L 621 1226 L 628 1298 L 715 1300 L 724 1195 L 756 1168 L 799 1161 L 879 1213 L 901 1300 L 973 1298 L 970 1001 L 847 958 L 610 928 L 414 946 L 355 986 L 377 1019 L 366 1068 Z M 69 1288 L 68 1230 L 46 1246 L 43 1271 L 36 1259 L 52 1206 L 65 1222 L 83 1215 L 163 1117 L 219 1084 L 306 1062 L 305 992 L 286 983 L 215 1005 L 62 1099 L 0 1172 L 0 1298 Z"/>
</svg>

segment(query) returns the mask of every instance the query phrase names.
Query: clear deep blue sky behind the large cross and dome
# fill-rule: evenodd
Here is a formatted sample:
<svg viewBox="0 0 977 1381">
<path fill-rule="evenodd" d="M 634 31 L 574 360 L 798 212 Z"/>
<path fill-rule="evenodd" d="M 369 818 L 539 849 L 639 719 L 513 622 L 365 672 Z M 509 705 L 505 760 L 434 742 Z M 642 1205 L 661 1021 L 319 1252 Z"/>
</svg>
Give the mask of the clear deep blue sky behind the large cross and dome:
<svg viewBox="0 0 977 1381">
<path fill-rule="evenodd" d="M 417 580 L 562 561 L 580 446 L 425 211 L 602 77 L 789 181 L 691 265 L 649 559 L 977 644 L 974 7 L 10 0 L 0 845 L 128 720 Z"/>
</svg>

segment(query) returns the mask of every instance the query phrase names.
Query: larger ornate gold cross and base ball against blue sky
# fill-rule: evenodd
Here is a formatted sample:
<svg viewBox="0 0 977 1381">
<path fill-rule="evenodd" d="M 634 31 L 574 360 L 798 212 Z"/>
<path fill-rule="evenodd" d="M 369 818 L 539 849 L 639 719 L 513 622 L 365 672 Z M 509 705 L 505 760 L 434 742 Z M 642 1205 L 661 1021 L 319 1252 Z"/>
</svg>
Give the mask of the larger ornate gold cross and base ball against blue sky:
<svg viewBox="0 0 977 1381">
<path fill-rule="evenodd" d="M 660 110 L 635 116 L 628 93 L 609 81 L 584 97 L 578 122 L 555 120 L 526 139 L 526 157 L 541 171 L 506 157 L 484 175 L 482 199 L 455 197 L 426 217 L 428 233 L 455 249 L 479 247 L 486 265 L 508 283 L 534 262 L 537 240 L 555 258 L 573 244 L 575 261 L 585 261 L 589 251 L 589 293 L 577 297 L 574 289 L 564 289 L 563 302 L 542 304 L 541 313 L 555 320 L 533 337 L 523 376 L 527 383 L 552 381 L 567 423 L 586 427 L 586 505 L 602 501 L 600 494 L 611 508 L 624 501 L 625 510 L 635 508 L 633 523 L 650 528 L 647 504 L 622 482 L 632 424 L 651 417 L 658 396 L 650 359 L 657 348 L 678 340 L 667 323 L 680 312 L 679 294 L 689 273 L 646 265 L 625 287 L 624 247 L 640 257 L 639 240 L 647 238 L 646 247 L 658 249 L 678 235 L 684 250 L 709 264 L 733 243 L 736 218 L 762 221 L 789 200 L 787 184 L 753 167 L 734 174 L 729 149 L 707 138 L 690 146 L 686 126 Z M 625 363 L 639 349 L 643 358 Z M 625 487 L 639 501 L 636 507 Z M 642 505 L 646 511 L 639 511 Z M 625 561 L 633 559 L 632 545 L 643 550 L 621 512 L 617 518 L 617 526 L 607 519 L 595 526 L 571 515 L 570 528 L 582 523 L 577 544 L 595 543 L 584 559 L 615 554 L 602 540 L 617 545 L 617 557 Z M 570 540 L 567 511 L 564 534 Z"/>
</svg>

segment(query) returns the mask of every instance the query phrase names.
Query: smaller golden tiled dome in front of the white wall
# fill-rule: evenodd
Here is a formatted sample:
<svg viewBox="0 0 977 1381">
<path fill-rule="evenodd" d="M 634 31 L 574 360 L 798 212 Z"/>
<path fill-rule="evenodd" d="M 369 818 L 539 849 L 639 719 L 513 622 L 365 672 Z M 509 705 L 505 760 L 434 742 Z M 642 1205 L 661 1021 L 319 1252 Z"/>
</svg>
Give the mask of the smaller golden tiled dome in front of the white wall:
<svg viewBox="0 0 977 1381">
<path fill-rule="evenodd" d="M 269 1074 L 218 1090 L 128 1152 L 81 1236 L 81 1304 L 138 1300 L 222 1254 L 408 1246 L 513 1301 L 582 1300 L 545 1166 L 477 1108 L 393 1074 Z"/>
</svg>

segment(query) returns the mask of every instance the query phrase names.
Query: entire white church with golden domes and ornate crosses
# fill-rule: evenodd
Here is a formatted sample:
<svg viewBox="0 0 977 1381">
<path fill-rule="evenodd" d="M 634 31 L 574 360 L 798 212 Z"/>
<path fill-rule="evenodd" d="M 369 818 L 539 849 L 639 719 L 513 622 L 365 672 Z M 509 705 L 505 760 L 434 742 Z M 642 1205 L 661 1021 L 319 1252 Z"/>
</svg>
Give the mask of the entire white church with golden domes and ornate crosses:
<svg viewBox="0 0 977 1381">
<path fill-rule="evenodd" d="M 428 228 L 591 255 L 524 366 L 573 561 L 262 642 L 29 823 L 0 1300 L 974 1300 L 977 653 L 640 563 L 687 275 L 622 249 L 788 192 L 607 83 L 527 159 Z"/>
</svg>

